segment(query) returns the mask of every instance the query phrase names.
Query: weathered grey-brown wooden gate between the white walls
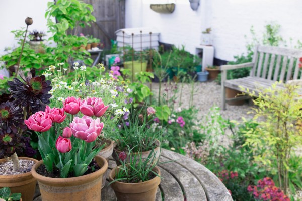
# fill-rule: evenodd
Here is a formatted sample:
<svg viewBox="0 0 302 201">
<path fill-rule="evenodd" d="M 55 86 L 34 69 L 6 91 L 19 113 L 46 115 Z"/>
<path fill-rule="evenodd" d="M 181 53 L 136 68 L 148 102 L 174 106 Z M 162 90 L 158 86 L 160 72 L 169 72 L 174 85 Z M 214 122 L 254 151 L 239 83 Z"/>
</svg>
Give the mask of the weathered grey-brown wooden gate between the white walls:
<svg viewBox="0 0 302 201">
<path fill-rule="evenodd" d="M 125 28 L 125 0 L 84 0 L 94 8 L 92 13 L 96 22 L 91 27 L 80 28 L 78 33 L 99 38 L 104 48 L 111 47 L 111 39 L 115 40 L 114 32 Z"/>
</svg>

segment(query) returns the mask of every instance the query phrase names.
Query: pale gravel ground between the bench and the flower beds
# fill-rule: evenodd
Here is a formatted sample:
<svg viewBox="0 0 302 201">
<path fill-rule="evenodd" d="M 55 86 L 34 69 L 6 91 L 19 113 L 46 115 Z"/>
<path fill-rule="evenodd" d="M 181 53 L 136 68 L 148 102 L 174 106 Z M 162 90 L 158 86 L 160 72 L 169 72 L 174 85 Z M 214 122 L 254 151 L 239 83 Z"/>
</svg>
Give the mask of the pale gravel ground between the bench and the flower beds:
<svg viewBox="0 0 302 201">
<path fill-rule="evenodd" d="M 180 100 L 180 91 L 182 84 L 177 85 L 179 92 L 176 95 L 177 99 L 177 105 Z M 163 93 L 165 86 L 162 86 Z M 159 90 L 159 84 L 158 83 L 152 83 L 152 90 L 155 94 L 155 96 L 158 95 Z M 181 95 L 181 102 L 182 107 L 188 108 L 189 107 L 189 100 L 190 100 L 190 94 L 192 90 L 192 85 L 185 83 L 183 84 L 183 90 Z M 218 106 L 221 108 L 221 101 L 220 101 L 220 93 L 221 93 L 221 86 L 218 85 L 216 82 L 195 82 L 194 83 L 194 95 L 193 95 L 193 105 L 196 107 L 196 109 L 199 110 L 198 118 L 201 118 L 202 116 L 206 115 L 209 111 L 209 109 L 213 106 Z M 242 106 L 230 106 L 226 104 L 226 110 L 221 110 L 221 115 L 225 119 L 230 120 L 236 120 L 241 121 L 241 117 L 245 117 L 246 119 L 251 119 L 253 116 L 251 114 L 247 114 L 248 111 L 251 110 L 251 107 L 245 103 Z"/>
</svg>

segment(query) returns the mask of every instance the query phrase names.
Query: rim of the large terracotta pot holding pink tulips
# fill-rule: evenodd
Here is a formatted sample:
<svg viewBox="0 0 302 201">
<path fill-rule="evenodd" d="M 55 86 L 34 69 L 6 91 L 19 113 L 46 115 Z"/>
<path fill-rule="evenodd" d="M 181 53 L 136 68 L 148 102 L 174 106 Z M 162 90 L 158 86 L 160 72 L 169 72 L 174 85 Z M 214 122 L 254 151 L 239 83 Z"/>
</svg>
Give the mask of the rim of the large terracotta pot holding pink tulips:
<svg viewBox="0 0 302 201">
<path fill-rule="evenodd" d="M 48 184 L 60 183 L 62 185 L 66 184 L 66 183 L 71 183 L 72 185 L 79 185 L 80 183 L 82 183 L 83 180 L 93 181 L 95 179 L 98 179 L 97 175 L 104 174 L 105 171 L 107 170 L 108 163 L 107 163 L 106 159 L 104 157 L 99 156 L 99 155 L 96 155 L 95 158 L 99 158 L 102 161 L 103 166 L 99 170 L 97 170 L 95 172 L 92 172 L 90 174 L 77 176 L 77 177 L 71 177 L 71 178 L 46 177 L 46 176 L 43 176 L 43 175 L 38 174 L 36 172 L 36 169 L 43 163 L 43 160 L 40 160 L 38 163 L 36 163 L 32 167 L 32 175 L 33 175 L 34 178 L 37 179 L 37 181 L 43 181 L 43 183 L 48 183 Z"/>
</svg>

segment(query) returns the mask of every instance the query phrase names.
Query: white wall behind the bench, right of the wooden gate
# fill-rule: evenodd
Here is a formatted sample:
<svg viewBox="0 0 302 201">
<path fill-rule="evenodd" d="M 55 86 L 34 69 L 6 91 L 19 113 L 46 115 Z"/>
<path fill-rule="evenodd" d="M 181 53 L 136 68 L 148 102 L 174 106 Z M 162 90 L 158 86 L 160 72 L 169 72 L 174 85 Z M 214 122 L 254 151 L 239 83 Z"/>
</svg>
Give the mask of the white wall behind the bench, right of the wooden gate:
<svg viewBox="0 0 302 201">
<path fill-rule="evenodd" d="M 175 3 L 175 11 L 152 11 L 150 4 L 159 2 Z M 197 11 L 191 10 L 188 0 L 126 0 L 126 28 L 154 26 L 161 32 L 161 42 L 183 44 L 195 53 L 201 31 L 211 27 L 215 57 L 233 60 L 246 51 L 244 36 L 251 36 L 252 25 L 261 36 L 266 24 L 280 24 L 280 35 L 288 46 L 290 38 L 293 45 L 302 40 L 301 8 L 300 0 L 200 0 Z"/>
</svg>

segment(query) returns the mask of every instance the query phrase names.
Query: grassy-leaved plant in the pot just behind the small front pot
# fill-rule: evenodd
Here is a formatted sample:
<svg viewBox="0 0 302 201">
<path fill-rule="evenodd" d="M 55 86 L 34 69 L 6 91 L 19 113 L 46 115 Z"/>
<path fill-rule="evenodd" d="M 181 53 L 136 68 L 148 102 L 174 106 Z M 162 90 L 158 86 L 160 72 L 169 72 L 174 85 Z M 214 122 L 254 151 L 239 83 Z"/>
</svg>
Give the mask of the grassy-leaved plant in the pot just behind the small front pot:
<svg viewBox="0 0 302 201">
<path fill-rule="evenodd" d="M 151 110 L 155 113 L 155 110 Z M 121 165 L 119 161 L 120 154 L 127 152 L 128 147 L 131 149 L 131 156 L 140 155 L 142 158 L 147 158 L 150 154 L 155 154 L 155 158 L 160 157 L 161 133 L 159 129 L 151 128 L 149 125 L 154 122 L 153 119 L 147 121 L 139 110 L 137 115 L 129 117 L 126 123 L 124 120 L 123 129 L 120 130 L 119 136 L 116 139 L 116 146 L 113 149 L 112 157 L 117 165 Z M 151 114 L 151 113 L 149 113 Z M 130 160 L 127 158 L 127 160 Z"/>
</svg>

